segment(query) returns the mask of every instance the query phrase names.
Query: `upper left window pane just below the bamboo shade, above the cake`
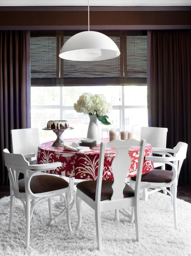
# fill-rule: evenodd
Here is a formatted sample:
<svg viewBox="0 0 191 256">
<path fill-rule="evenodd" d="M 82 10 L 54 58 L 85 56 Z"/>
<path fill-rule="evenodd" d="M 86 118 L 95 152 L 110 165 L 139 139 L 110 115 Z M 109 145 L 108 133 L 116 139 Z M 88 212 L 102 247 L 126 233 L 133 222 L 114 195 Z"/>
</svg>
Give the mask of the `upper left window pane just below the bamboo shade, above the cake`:
<svg viewBox="0 0 191 256">
<path fill-rule="evenodd" d="M 31 105 L 60 105 L 60 87 L 31 87 Z"/>
</svg>

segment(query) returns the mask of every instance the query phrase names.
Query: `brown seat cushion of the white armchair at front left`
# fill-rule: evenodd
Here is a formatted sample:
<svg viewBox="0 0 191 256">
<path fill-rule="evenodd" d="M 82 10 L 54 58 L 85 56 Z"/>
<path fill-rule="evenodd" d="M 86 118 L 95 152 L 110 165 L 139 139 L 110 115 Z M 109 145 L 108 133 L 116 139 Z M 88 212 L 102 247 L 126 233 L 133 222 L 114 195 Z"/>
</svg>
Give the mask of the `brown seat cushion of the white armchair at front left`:
<svg viewBox="0 0 191 256">
<path fill-rule="evenodd" d="M 24 179 L 19 180 L 18 184 L 19 192 L 25 193 Z M 68 186 L 67 181 L 53 175 L 36 175 L 30 181 L 30 189 L 34 194 L 62 189 Z"/>
</svg>

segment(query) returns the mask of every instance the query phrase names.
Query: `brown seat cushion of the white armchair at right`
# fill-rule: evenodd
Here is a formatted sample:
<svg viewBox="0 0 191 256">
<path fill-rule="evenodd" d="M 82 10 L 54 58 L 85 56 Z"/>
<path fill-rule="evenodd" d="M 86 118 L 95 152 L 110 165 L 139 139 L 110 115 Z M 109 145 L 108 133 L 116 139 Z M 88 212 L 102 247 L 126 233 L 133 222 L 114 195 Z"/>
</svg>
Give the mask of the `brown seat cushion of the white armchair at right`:
<svg viewBox="0 0 191 256">
<path fill-rule="evenodd" d="M 141 181 L 143 182 L 155 182 L 155 183 L 169 183 L 173 178 L 173 172 L 166 170 L 154 169 L 152 172 L 142 174 Z M 131 180 L 136 180 L 135 177 L 131 177 Z"/>
</svg>

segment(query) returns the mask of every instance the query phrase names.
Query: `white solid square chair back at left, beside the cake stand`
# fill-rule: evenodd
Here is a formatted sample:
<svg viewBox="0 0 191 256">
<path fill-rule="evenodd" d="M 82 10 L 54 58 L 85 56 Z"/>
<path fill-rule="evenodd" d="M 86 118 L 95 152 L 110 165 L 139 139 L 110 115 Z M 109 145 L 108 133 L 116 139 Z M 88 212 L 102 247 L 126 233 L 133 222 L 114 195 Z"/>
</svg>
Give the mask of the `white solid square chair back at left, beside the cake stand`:
<svg viewBox="0 0 191 256">
<path fill-rule="evenodd" d="M 15 154 L 38 153 L 38 128 L 11 130 L 12 149 Z"/>
</svg>

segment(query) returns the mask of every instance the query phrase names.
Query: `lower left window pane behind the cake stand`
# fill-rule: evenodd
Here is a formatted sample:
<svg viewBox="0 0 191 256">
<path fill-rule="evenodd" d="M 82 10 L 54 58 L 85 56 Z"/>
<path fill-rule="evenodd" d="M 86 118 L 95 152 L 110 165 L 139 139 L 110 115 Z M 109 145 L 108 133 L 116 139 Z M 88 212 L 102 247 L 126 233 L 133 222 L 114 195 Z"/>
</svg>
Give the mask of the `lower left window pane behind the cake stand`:
<svg viewBox="0 0 191 256">
<path fill-rule="evenodd" d="M 31 128 L 39 129 L 40 142 L 56 140 L 56 134 L 53 131 L 42 130 L 47 127 L 49 120 L 59 120 L 60 109 L 51 108 L 32 108 L 31 109 Z"/>
</svg>

